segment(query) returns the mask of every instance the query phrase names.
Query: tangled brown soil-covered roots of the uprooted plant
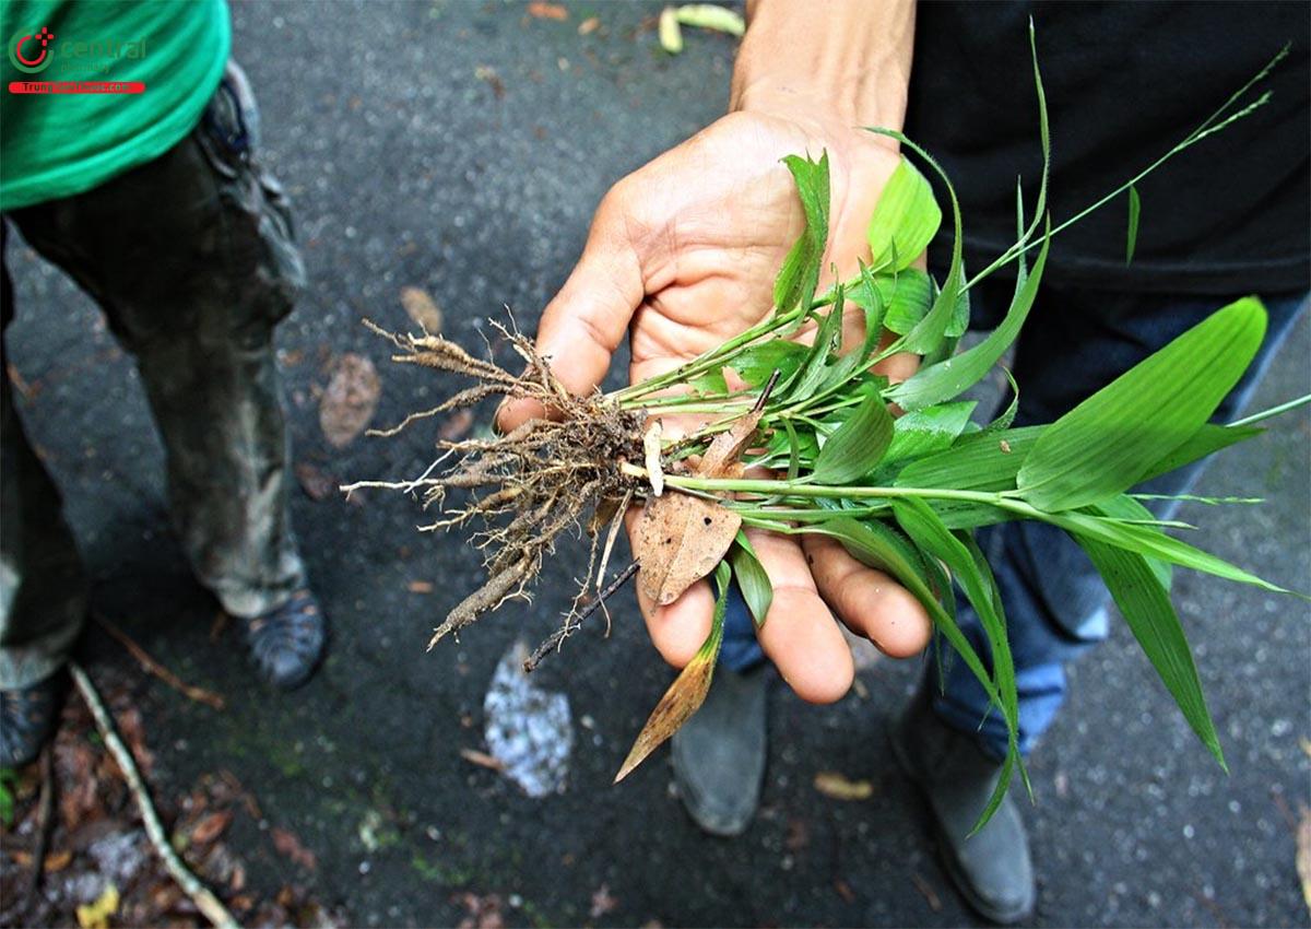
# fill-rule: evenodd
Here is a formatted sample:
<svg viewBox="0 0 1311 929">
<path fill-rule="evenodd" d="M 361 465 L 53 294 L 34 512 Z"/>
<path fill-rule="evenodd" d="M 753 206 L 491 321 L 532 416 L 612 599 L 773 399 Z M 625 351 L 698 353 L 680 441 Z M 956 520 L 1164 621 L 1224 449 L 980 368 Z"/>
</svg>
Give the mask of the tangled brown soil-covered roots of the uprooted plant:
<svg viewBox="0 0 1311 929">
<path fill-rule="evenodd" d="M 473 407 L 490 396 L 532 400 L 549 412 L 548 417 L 528 420 L 503 436 L 439 440 L 444 455 L 413 482 L 351 485 L 421 492 L 425 505 L 442 512 L 442 518 L 425 526 L 425 531 L 479 526 L 473 541 L 485 556 L 486 581 L 447 614 L 434 630 L 429 648 L 506 600 L 526 597 L 544 558 L 569 529 L 586 530 L 593 539 L 577 611 L 594 573 L 599 579 L 604 572 L 623 510 L 638 489 L 640 479 L 623 474 L 621 464 L 642 461 L 645 413 L 620 409 L 597 391 L 570 395 L 532 342 L 499 324 L 497 328 L 527 365 L 522 374 L 476 358 L 440 336 L 393 335 L 368 325 L 396 346 L 392 361 L 473 381 L 440 405 L 412 413 L 393 429 L 374 434 L 395 434 L 416 420 Z M 454 466 L 431 474 L 450 458 L 455 458 Z M 608 535 L 603 533 L 607 525 Z M 603 535 L 607 543 L 598 564 Z"/>
</svg>

